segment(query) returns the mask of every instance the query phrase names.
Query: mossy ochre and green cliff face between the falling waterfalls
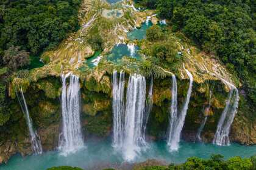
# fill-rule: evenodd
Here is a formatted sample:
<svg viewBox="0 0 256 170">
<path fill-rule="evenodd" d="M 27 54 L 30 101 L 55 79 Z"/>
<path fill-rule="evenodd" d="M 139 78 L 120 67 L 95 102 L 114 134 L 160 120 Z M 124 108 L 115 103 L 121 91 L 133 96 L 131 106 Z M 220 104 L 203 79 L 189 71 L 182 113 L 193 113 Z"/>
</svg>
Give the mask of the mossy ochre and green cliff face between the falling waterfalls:
<svg viewBox="0 0 256 170">
<path fill-rule="evenodd" d="M 106 70 L 94 71 L 86 76 L 80 76 L 81 87 L 81 116 L 82 129 L 87 138 L 105 138 L 112 134 L 112 72 Z M 126 81 L 129 75 L 126 75 Z M 178 79 L 178 100 L 181 107 L 187 94 L 188 79 Z M 147 81 L 149 87 L 149 80 Z M 193 93 L 188 108 L 182 138 L 195 141 L 196 133 L 205 114 L 205 105 L 208 102 L 208 91 L 213 87 L 212 106 L 202 132 L 205 142 L 213 140 L 219 116 L 225 107 L 227 91 L 220 80 L 208 80 L 193 84 Z M 59 77 L 49 76 L 30 83 L 26 88 L 25 97 L 30 110 L 34 127 L 40 135 L 44 151 L 57 149 L 59 132 L 62 126 L 60 91 L 62 84 Z M 148 136 L 152 140 L 166 138 L 169 124 L 169 107 L 171 105 L 171 77 L 154 80 L 153 88 L 154 107 L 149 117 Z M 240 104 L 241 105 L 241 104 Z M 16 153 L 31 154 L 29 133 L 23 113 L 15 98 L 13 108 L 17 113 L 15 124 L 9 124 L 9 132 L 1 134 L 0 158 L 7 161 Z M 243 109 L 243 107 L 241 107 Z M 232 125 L 231 140 L 241 144 L 255 144 L 254 122 L 239 110 L 238 116 Z M 22 127 L 22 128 L 21 128 Z"/>
</svg>

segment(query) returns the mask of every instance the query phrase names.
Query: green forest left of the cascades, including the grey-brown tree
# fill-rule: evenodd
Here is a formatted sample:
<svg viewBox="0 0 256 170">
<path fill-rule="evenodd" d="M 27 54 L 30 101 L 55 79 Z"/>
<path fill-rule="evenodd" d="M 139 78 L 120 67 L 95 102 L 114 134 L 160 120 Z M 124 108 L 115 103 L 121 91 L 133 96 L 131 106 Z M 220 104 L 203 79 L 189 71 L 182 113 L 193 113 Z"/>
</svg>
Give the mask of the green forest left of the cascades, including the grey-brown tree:
<svg viewBox="0 0 256 170">
<path fill-rule="evenodd" d="M 7 83 L 41 52 L 79 29 L 80 0 L 0 1 L 0 125 L 10 118 Z M 24 73 L 24 71 L 20 71 Z"/>
</svg>

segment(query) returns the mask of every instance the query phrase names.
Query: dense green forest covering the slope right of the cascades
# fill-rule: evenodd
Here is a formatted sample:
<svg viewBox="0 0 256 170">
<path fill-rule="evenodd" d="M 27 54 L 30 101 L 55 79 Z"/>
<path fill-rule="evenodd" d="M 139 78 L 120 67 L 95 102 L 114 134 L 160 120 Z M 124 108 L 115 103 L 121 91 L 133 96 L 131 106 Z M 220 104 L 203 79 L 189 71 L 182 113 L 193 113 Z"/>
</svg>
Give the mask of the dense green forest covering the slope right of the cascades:
<svg viewBox="0 0 256 170">
<path fill-rule="evenodd" d="M 256 1 L 136 0 L 138 6 L 157 9 L 172 30 L 181 31 L 199 48 L 218 57 L 256 104 Z"/>
</svg>

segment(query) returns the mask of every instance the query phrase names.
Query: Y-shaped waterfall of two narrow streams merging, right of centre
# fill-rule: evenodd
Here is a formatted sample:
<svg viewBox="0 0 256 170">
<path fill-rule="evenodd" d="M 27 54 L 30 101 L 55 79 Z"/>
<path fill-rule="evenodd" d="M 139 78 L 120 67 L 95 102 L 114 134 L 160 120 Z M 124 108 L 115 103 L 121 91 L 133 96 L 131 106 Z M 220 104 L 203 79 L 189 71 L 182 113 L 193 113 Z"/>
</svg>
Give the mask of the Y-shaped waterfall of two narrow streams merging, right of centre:
<svg viewBox="0 0 256 170">
<path fill-rule="evenodd" d="M 185 67 L 184 67 L 185 69 Z M 172 87 L 174 88 L 174 95 L 172 95 L 172 104 L 173 105 L 173 110 L 171 111 L 171 114 L 173 113 L 173 115 L 171 115 L 171 118 L 173 120 L 171 120 L 171 125 L 170 125 L 170 132 L 168 136 L 168 146 L 169 146 L 169 149 L 170 151 L 177 151 L 177 149 L 179 149 L 179 141 L 180 141 L 180 133 L 182 132 L 182 128 L 183 128 L 183 125 L 185 123 L 185 118 L 186 118 L 186 115 L 187 115 L 187 110 L 188 110 L 188 104 L 190 103 L 190 96 L 191 96 L 191 93 L 192 93 L 192 85 L 193 85 L 193 76 L 192 74 L 187 70 L 185 69 L 188 77 L 190 78 L 190 86 L 188 87 L 188 93 L 187 93 L 187 97 L 185 99 L 185 103 L 183 104 L 182 106 L 182 110 L 179 114 L 179 116 L 176 116 L 175 115 L 175 101 L 177 101 L 177 99 L 175 99 L 174 97 L 177 97 L 177 91 L 175 93 L 175 88 L 176 87 Z M 173 77 L 173 76 L 172 76 Z M 172 83 L 174 82 L 174 84 L 176 83 L 175 81 L 172 80 Z M 172 107 L 172 106 L 171 106 Z M 173 116 L 173 117 L 172 117 Z"/>
</svg>

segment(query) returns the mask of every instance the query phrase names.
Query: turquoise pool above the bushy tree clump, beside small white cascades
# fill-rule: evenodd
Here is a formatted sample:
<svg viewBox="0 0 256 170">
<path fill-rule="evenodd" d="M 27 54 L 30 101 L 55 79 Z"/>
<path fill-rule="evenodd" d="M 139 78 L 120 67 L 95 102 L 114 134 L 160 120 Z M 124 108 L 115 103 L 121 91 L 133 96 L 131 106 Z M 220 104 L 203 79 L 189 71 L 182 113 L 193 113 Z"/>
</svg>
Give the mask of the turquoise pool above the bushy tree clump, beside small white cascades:
<svg viewBox="0 0 256 170">
<path fill-rule="evenodd" d="M 146 30 L 149 29 L 149 27 L 151 27 L 152 25 L 153 24 L 151 21 L 149 21 L 148 24 L 143 23 L 140 29 L 133 29 L 131 32 L 128 32 L 127 38 L 129 38 L 129 40 L 142 40 L 146 38 Z"/>
</svg>

